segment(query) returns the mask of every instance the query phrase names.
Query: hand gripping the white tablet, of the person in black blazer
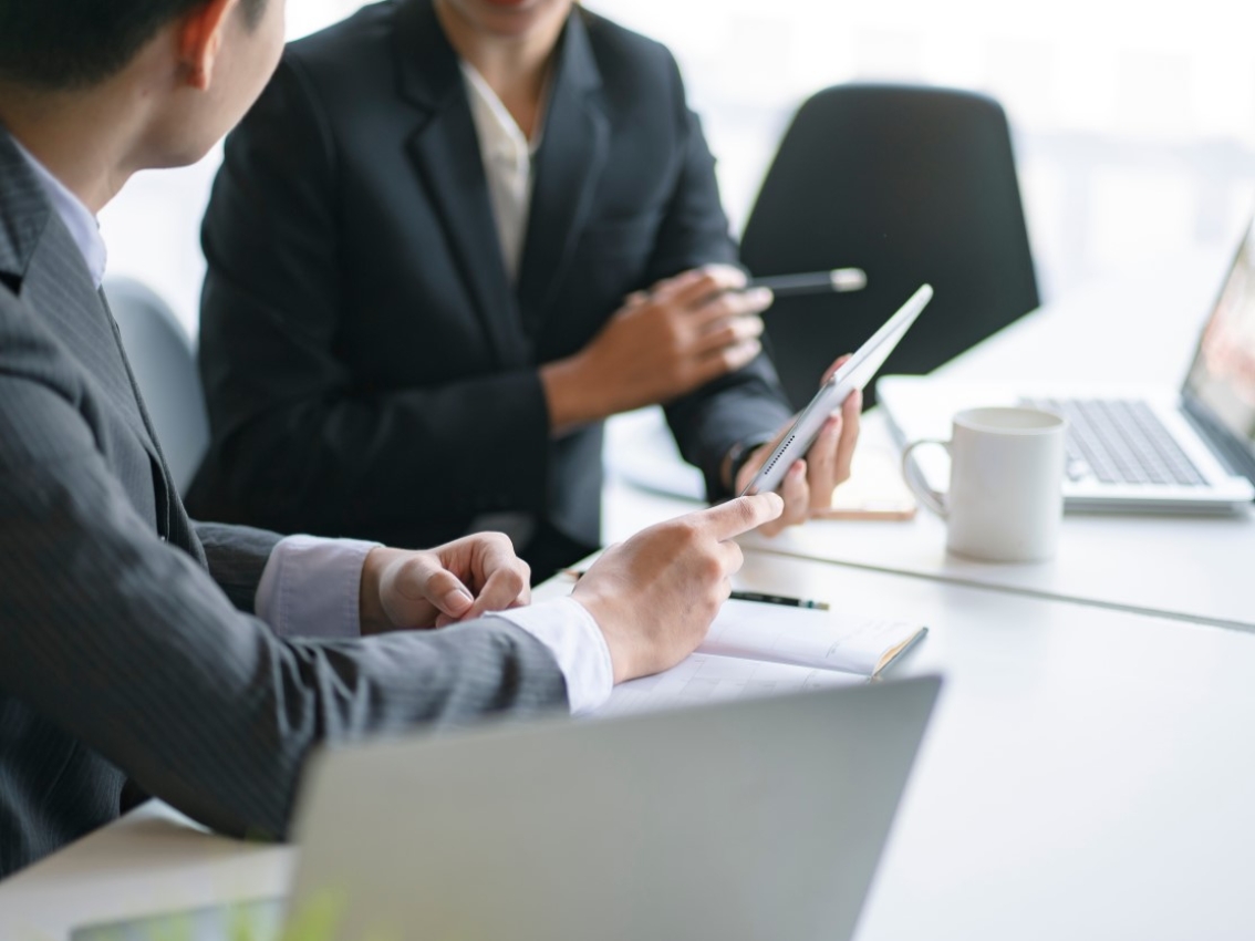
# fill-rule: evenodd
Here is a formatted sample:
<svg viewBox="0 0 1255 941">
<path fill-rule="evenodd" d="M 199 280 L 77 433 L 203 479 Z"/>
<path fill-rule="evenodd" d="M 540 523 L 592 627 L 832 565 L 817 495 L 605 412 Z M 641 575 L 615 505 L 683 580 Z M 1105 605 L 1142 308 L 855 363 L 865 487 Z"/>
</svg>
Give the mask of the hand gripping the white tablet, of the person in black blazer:
<svg viewBox="0 0 1255 941">
<path fill-rule="evenodd" d="M 828 381 L 847 359 L 850 356 L 842 356 L 828 366 L 820 385 Z M 832 492 L 838 484 L 850 479 L 850 464 L 855 457 L 855 445 L 858 443 L 861 414 L 862 393 L 855 390 L 841 407 L 841 412 L 825 423 L 820 437 L 806 453 L 806 459 L 796 460 L 788 469 L 779 487 L 779 494 L 784 498 L 784 512 L 761 527 L 764 536 L 777 536 L 786 527 L 804 523 L 832 506 Z M 793 420 L 789 419 L 769 444 L 756 450 L 742 465 L 733 482 L 733 493 L 740 493 L 745 488 L 792 427 Z"/>
</svg>

